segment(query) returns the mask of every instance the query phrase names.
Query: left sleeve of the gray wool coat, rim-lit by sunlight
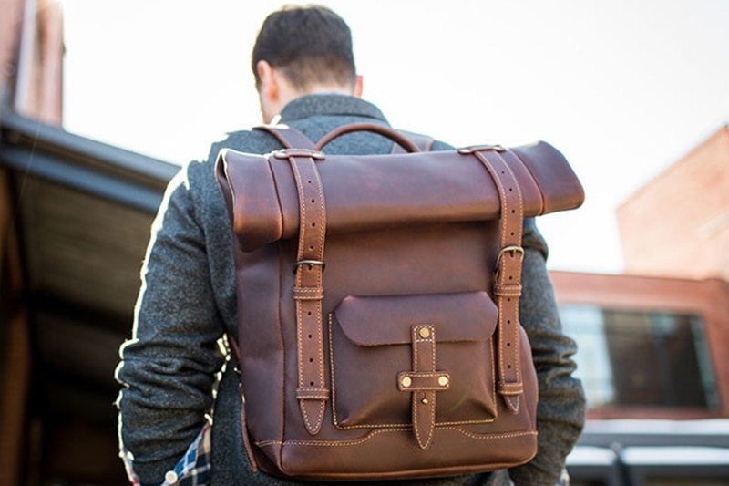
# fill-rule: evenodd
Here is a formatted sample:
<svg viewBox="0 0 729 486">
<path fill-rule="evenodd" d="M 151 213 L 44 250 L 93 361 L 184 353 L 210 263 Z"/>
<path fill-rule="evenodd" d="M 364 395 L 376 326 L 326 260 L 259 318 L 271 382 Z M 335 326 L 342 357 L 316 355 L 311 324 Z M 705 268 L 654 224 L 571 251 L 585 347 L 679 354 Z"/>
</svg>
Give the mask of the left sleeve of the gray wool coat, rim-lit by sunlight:
<svg viewBox="0 0 729 486">
<path fill-rule="evenodd" d="M 159 486 L 200 433 L 223 363 L 205 236 L 187 171 L 169 183 L 141 271 L 117 379 L 119 440 L 139 484 Z"/>
</svg>

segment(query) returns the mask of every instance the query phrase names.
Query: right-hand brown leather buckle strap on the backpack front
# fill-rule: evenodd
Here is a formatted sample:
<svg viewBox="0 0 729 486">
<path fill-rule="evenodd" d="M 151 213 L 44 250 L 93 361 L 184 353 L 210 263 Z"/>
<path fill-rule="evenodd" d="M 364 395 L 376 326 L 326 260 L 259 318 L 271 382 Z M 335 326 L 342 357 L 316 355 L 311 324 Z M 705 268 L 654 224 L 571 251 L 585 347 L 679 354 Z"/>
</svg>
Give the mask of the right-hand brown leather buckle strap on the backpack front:
<svg viewBox="0 0 729 486">
<path fill-rule="evenodd" d="M 513 155 L 501 147 L 471 149 L 496 183 L 501 201 L 500 250 L 496 262 L 494 295 L 498 305 L 498 394 L 512 413 L 519 412 L 523 392 L 519 370 L 519 296 L 524 249 L 521 237 L 524 206 L 514 172 L 505 157 Z"/>
</svg>

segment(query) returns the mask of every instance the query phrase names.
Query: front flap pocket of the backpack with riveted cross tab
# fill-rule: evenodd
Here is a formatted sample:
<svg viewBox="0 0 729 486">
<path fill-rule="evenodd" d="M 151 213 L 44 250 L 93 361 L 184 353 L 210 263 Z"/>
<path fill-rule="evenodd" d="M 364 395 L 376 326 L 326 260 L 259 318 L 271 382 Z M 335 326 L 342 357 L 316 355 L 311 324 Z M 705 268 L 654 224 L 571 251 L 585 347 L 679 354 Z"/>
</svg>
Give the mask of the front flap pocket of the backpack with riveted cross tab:
<svg viewBox="0 0 729 486">
<path fill-rule="evenodd" d="M 492 421 L 497 320 L 482 291 L 344 297 L 329 315 L 334 425 L 411 427 L 414 399 L 433 398 L 436 426 Z"/>
</svg>

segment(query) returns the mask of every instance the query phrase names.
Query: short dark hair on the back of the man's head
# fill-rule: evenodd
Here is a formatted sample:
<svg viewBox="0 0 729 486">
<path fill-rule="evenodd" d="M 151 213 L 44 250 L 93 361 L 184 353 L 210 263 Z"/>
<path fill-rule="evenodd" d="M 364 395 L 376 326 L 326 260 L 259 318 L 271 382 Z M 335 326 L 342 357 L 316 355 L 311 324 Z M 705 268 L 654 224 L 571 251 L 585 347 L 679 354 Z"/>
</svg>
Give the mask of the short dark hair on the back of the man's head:
<svg viewBox="0 0 729 486">
<path fill-rule="evenodd" d="M 321 5 L 284 5 L 267 16 L 251 57 L 256 86 L 260 60 L 281 69 L 298 89 L 313 83 L 354 86 L 356 78 L 349 26 Z"/>
</svg>

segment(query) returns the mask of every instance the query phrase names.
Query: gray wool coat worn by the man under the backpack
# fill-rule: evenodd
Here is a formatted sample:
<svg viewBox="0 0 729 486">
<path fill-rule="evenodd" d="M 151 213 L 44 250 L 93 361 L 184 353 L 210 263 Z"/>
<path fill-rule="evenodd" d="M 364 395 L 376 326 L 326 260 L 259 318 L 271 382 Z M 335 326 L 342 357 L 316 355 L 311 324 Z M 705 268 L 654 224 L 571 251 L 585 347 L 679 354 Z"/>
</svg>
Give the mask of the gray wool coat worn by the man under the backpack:
<svg viewBox="0 0 729 486">
<path fill-rule="evenodd" d="M 345 123 L 387 124 L 374 105 L 330 94 L 292 101 L 280 121 L 312 140 Z M 190 162 L 169 183 L 141 271 L 133 336 L 120 349 L 117 370 L 119 439 L 144 485 L 164 480 L 210 414 L 213 485 L 293 483 L 252 472 L 242 445 L 238 378 L 219 346 L 226 333 L 238 336 L 230 220 L 214 174 L 222 148 L 266 153 L 281 145 L 259 130 L 233 132 L 213 144 L 209 160 Z M 436 142 L 433 149 L 448 148 Z M 356 133 L 334 140 L 326 150 L 386 153 L 392 142 Z M 516 484 L 554 485 L 580 436 L 585 401 L 580 381 L 572 377 L 575 344 L 561 333 L 545 266 L 547 246 L 533 220 L 525 225 L 524 246 L 520 318 L 539 377 L 539 453 L 508 473 L 417 484 L 508 484 L 510 477 Z"/>
</svg>

